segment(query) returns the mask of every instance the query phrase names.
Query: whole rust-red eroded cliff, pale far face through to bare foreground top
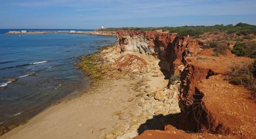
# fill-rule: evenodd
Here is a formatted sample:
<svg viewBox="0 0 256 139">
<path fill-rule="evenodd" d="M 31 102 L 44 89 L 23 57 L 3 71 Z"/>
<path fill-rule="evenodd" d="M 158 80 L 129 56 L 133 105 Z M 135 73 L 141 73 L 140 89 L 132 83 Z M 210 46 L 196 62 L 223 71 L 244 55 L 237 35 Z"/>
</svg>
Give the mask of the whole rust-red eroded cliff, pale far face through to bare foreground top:
<svg viewBox="0 0 256 139">
<path fill-rule="evenodd" d="M 256 136 L 253 133 L 255 129 L 251 128 L 245 132 L 244 128 L 243 130 L 241 128 L 253 126 L 253 122 L 249 119 L 256 116 L 255 113 L 248 112 L 247 105 L 250 105 L 249 109 L 256 107 L 253 101 L 248 100 L 251 91 L 243 87 L 236 87 L 227 81 L 227 71 L 233 64 L 252 62 L 252 59 L 234 57 L 230 51 L 228 56 L 214 57 L 212 49 L 202 50 L 200 48 L 200 45 L 203 44 L 201 41 L 172 33 L 117 31 L 117 39 L 121 53 L 135 52 L 140 53 L 141 57 L 143 55 L 154 56 L 160 59 L 158 64 L 162 72 L 167 71 L 169 76 L 181 74 L 178 99 L 182 113 L 178 120 L 175 119 L 178 122 L 171 121 L 171 125 L 183 131 L 198 133 L 203 137 L 209 137 L 208 133 L 221 134 L 224 136 L 216 137 L 227 138 Z M 228 88 L 225 88 L 224 84 Z M 211 89 L 209 90 L 209 88 Z M 230 91 L 232 97 L 228 97 L 226 89 Z M 243 91 L 239 94 L 237 90 Z M 215 94 L 212 94 L 213 92 Z M 232 103 L 237 103 L 236 99 L 248 103 L 239 102 L 241 105 L 234 105 L 231 108 Z M 223 107 L 219 107 L 218 103 L 220 102 L 224 105 Z M 240 110 L 241 106 L 243 113 Z M 229 109 L 232 109 L 233 112 Z M 239 114 L 236 114 L 238 111 Z M 245 118 L 244 115 L 249 116 Z M 170 120 L 172 119 L 170 118 Z M 232 123 L 233 120 L 237 121 L 236 124 Z M 165 127 L 166 132 L 147 131 L 137 139 L 150 139 L 150 136 L 156 137 L 155 134 L 159 134 L 161 137 L 177 136 L 174 136 L 174 133 L 182 133 L 182 137 L 194 137 L 194 135 L 170 127 L 171 125 Z M 197 135 L 195 134 L 195 136 Z"/>
</svg>

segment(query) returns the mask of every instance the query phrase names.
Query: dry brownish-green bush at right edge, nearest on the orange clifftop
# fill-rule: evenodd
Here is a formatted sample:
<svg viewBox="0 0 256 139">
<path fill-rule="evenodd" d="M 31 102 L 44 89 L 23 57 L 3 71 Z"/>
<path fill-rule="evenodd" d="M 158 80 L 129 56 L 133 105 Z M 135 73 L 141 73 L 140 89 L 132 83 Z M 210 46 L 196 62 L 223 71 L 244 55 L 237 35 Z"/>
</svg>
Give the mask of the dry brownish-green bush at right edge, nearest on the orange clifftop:
<svg viewBox="0 0 256 139">
<path fill-rule="evenodd" d="M 230 81 L 256 91 L 256 61 L 243 66 L 235 65 L 229 71 Z"/>
</svg>

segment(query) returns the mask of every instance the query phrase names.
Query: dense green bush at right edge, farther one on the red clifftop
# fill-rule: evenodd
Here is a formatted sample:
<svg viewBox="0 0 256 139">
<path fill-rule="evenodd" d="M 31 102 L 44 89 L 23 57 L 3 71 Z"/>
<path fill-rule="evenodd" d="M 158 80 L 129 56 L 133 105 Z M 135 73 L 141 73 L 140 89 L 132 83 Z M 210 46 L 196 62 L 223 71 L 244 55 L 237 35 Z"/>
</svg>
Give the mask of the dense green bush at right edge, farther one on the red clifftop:
<svg viewBox="0 0 256 139">
<path fill-rule="evenodd" d="M 237 56 L 256 58 L 256 41 L 236 43 L 231 52 L 236 54 Z"/>
</svg>

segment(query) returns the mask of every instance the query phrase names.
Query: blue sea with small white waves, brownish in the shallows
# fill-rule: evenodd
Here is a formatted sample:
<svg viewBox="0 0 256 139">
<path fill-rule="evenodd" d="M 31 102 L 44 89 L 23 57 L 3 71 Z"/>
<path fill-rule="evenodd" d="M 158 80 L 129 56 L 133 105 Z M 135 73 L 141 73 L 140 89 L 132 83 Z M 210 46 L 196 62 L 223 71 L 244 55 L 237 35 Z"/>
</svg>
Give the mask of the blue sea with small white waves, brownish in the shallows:
<svg viewBox="0 0 256 139">
<path fill-rule="evenodd" d="M 67 33 L 4 34 L 21 30 L 70 31 L 0 29 L 0 126 L 25 123 L 63 98 L 84 93 L 90 80 L 74 65 L 79 62 L 77 57 L 94 53 L 116 40 L 115 37 Z M 17 81 L 7 81 L 7 78 Z"/>
</svg>

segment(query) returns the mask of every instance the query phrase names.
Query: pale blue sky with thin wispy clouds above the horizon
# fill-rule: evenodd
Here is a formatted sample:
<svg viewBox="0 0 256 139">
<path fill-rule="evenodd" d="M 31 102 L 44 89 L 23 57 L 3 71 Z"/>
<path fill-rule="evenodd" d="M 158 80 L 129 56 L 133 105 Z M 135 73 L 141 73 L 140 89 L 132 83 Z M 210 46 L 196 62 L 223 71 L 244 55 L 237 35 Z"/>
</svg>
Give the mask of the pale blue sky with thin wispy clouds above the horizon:
<svg viewBox="0 0 256 139">
<path fill-rule="evenodd" d="M 256 0 L 0 0 L 0 28 L 97 29 L 243 22 Z"/>
</svg>

